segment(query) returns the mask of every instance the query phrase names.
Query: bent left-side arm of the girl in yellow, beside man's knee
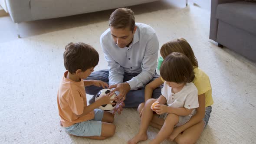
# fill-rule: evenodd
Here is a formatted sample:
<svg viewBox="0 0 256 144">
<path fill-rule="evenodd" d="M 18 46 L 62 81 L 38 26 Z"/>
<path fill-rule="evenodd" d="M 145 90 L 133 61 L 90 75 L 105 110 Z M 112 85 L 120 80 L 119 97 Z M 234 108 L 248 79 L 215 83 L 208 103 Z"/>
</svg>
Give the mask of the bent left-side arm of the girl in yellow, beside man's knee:
<svg viewBox="0 0 256 144">
<path fill-rule="evenodd" d="M 160 85 L 162 85 L 164 82 L 161 80 L 161 78 L 157 78 L 145 87 L 145 101 L 150 99 L 152 97 L 154 89 L 158 88 Z"/>
</svg>

